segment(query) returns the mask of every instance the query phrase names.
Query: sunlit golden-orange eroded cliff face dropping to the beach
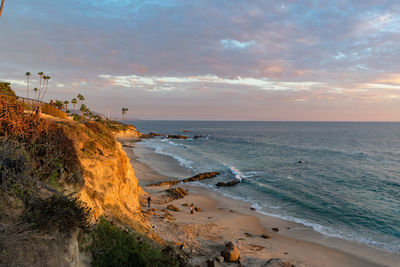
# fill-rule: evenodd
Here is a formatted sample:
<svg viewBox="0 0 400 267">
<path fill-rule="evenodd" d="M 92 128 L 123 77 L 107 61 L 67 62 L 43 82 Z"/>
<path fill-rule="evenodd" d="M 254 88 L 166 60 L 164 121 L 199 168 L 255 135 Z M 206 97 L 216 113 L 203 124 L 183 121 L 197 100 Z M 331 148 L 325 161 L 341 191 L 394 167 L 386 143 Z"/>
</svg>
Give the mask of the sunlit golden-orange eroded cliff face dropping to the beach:
<svg viewBox="0 0 400 267">
<path fill-rule="evenodd" d="M 129 158 L 114 136 L 140 136 L 134 127 L 112 133 L 100 123 L 63 122 L 61 127 L 74 145 L 84 184 L 79 196 L 93 210 L 95 219 L 105 216 L 157 239 L 140 208 L 145 192 L 139 186 Z"/>
</svg>

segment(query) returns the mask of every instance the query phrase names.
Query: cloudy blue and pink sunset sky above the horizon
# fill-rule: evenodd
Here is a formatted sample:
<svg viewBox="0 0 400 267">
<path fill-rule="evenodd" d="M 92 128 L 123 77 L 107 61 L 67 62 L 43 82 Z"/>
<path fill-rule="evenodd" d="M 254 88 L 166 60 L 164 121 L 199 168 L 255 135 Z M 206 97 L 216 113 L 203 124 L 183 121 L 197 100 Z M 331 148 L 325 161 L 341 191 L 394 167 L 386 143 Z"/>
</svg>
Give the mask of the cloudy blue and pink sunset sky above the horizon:
<svg viewBox="0 0 400 267">
<path fill-rule="evenodd" d="M 0 81 L 27 71 L 114 117 L 400 121 L 400 1 L 6 0 Z"/>
</svg>

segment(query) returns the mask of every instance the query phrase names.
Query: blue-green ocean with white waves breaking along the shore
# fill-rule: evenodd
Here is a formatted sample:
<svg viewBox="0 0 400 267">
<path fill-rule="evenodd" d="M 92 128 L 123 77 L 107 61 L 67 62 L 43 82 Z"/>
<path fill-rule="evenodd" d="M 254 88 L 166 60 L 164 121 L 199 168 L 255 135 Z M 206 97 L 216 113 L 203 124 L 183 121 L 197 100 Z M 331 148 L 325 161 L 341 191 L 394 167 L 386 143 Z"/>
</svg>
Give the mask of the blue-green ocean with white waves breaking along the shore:
<svg viewBox="0 0 400 267">
<path fill-rule="evenodd" d="M 400 253 L 400 123 L 131 123 L 145 133 L 190 137 L 142 144 L 193 173 L 221 172 L 194 185 L 327 236 Z M 215 186 L 233 179 L 241 183 Z"/>
</svg>

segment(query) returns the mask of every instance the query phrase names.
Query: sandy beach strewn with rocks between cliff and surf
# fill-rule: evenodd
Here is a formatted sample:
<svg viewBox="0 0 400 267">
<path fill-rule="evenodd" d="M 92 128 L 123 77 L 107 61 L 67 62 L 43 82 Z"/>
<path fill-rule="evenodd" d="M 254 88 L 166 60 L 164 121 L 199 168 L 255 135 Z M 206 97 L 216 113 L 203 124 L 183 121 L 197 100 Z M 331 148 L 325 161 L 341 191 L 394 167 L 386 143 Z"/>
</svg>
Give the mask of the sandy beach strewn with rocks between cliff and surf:
<svg viewBox="0 0 400 267">
<path fill-rule="evenodd" d="M 168 202 L 181 211 L 171 211 L 171 217 L 165 216 L 162 209 L 168 204 L 163 199 L 163 191 L 168 186 L 150 188 L 146 185 L 171 180 L 171 177 L 188 177 L 190 171 L 170 156 L 134 146 L 124 150 L 131 159 L 139 184 L 153 199 L 156 210 L 148 214 L 148 218 L 164 240 L 184 244 L 192 255 L 192 264 L 205 266 L 207 259 L 219 256 L 224 243 L 232 241 L 241 252 L 242 263 L 247 266 L 261 266 L 270 258 L 281 258 L 295 266 L 400 266 L 398 254 L 324 236 L 310 227 L 258 213 L 251 209 L 250 203 L 200 186 L 179 185 L 188 190 L 189 195 Z M 195 203 L 202 211 L 191 215 L 183 203 Z M 273 232 L 274 227 L 279 232 Z M 270 238 L 262 238 L 263 234 Z"/>
</svg>

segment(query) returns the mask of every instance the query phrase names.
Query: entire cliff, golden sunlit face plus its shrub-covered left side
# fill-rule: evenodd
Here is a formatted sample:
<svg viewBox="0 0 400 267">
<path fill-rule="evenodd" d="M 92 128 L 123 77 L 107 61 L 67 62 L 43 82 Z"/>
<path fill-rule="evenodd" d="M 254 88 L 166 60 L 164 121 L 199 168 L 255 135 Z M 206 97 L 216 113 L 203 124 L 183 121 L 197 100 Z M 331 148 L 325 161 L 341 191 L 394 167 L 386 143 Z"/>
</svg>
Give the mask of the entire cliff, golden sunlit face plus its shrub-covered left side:
<svg viewBox="0 0 400 267">
<path fill-rule="evenodd" d="M 0 265 L 90 265 L 96 228 L 86 228 L 86 218 L 123 229 L 117 238 L 160 242 L 141 213 L 145 192 L 114 137 L 140 136 L 134 127 L 38 119 L 18 109 L 0 121 Z"/>
</svg>

